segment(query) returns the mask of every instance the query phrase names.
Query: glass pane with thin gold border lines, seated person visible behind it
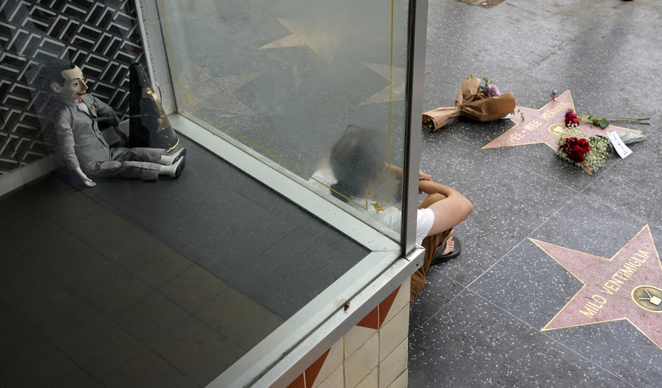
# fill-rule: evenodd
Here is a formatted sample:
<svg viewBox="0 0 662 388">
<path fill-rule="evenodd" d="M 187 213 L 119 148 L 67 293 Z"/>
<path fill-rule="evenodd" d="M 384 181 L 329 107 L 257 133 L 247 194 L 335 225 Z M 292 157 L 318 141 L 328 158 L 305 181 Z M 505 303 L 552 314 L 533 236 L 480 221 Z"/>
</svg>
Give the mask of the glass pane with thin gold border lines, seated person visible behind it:
<svg viewBox="0 0 662 388">
<path fill-rule="evenodd" d="M 159 3 L 181 114 L 400 241 L 407 2 Z"/>
</svg>

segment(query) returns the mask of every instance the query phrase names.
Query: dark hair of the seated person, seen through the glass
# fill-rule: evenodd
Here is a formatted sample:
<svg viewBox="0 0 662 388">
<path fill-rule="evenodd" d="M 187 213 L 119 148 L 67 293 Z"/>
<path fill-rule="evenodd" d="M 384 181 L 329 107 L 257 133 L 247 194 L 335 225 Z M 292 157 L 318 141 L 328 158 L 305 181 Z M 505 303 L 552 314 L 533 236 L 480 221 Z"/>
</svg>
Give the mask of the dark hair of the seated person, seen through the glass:
<svg viewBox="0 0 662 388">
<path fill-rule="evenodd" d="M 338 183 L 331 185 L 331 194 L 347 202 L 346 196 L 358 196 L 384 170 L 384 149 L 376 130 L 349 125 L 344 136 L 335 143 L 329 163 Z M 340 194 L 338 194 L 340 193 Z"/>
</svg>

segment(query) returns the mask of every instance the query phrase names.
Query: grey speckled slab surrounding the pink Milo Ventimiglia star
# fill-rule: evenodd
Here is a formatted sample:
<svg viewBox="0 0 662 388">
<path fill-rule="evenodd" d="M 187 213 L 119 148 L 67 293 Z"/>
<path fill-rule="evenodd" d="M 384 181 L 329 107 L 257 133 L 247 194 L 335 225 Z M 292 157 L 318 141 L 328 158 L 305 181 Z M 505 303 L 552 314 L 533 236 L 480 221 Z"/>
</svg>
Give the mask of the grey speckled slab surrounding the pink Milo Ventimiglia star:
<svg viewBox="0 0 662 388">
<path fill-rule="evenodd" d="M 574 198 L 532 233 L 531 238 L 612 258 L 645 227 L 645 222 L 601 202 L 582 195 Z M 614 230 L 621 233 L 615 234 Z M 652 227 L 651 232 L 654 241 L 660 241 L 662 229 Z M 662 275 L 662 269 L 659 274 Z M 607 279 L 608 276 L 601 280 Z M 661 280 L 657 279 L 658 282 Z M 527 239 L 480 276 L 469 289 L 532 328 L 542 329 L 583 286 L 580 279 Z M 605 309 L 614 308 L 616 303 L 632 304 L 632 309 L 626 309 L 626 313 L 636 314 L 639 307 L 629 299 L 627 295 L 625 300 L 607 300 Z M 575 314 L 581 317 L 578 312 Z M 639 331 L 626 320 L 616 320 L 554 329 L 545 331 L 545 335 L 634 386 L 654 386 L 662 378 L 662 368 L 656 367 L 662 363 L 662 351 L 646 338 L 649 330 L 641 329 Z"/>
</svg>

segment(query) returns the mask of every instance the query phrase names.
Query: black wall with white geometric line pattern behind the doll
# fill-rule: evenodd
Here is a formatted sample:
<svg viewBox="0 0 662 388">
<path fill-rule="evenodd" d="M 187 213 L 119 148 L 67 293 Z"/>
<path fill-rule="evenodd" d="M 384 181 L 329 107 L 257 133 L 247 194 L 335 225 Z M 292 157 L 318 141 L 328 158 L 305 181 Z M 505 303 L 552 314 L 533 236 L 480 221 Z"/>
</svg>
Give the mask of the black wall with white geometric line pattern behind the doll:
<svg viewBox="0 0 662 388">
<path fill-rule="evenodd" d="M 128 66 L 144 62 L 135 2 L 0 0 L 0 174 L 48 153 L 39 68 L 57 58 L 79 65 L 90 92 L 126 118 Z"/>
</svg>

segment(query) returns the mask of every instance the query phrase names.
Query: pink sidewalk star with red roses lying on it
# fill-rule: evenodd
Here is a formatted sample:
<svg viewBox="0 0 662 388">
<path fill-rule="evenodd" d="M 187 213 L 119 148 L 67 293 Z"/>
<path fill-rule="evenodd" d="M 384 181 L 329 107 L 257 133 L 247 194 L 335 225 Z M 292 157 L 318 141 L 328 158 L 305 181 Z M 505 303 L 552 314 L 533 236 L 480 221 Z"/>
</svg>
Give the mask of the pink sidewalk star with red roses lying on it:
<svg viewBox="0 0 662 388">
<path fill-rule="evenodd" d="M 556 101 L 550 101 L 540 109 L 526 108 L 523 106 L 515 107 L 515 114 L 510 119 L 516 123 L 509 130 L 490 141 L 483 148 L 512 147 L 514 145 L 527 145 L 535 143 L 545 143 L 556 151 L 556 136 L 558 131 L 565 127 L 565 112 L 568 109 L 574 110 L 574 102 L 570 91 L 566 90 L 561 96 L 556 97 Z M 520 118 L 520 111 L 524 114 L 524 121 Z M 610 125 L 606 130 L 596 127 L 590 121 L 581 121 L 579 123 L 581 131 L 588 137 L 596 134 L 607 136 L 607 132 L 640 132 L 630 128 L 617 127 Z"/>
</svg>

